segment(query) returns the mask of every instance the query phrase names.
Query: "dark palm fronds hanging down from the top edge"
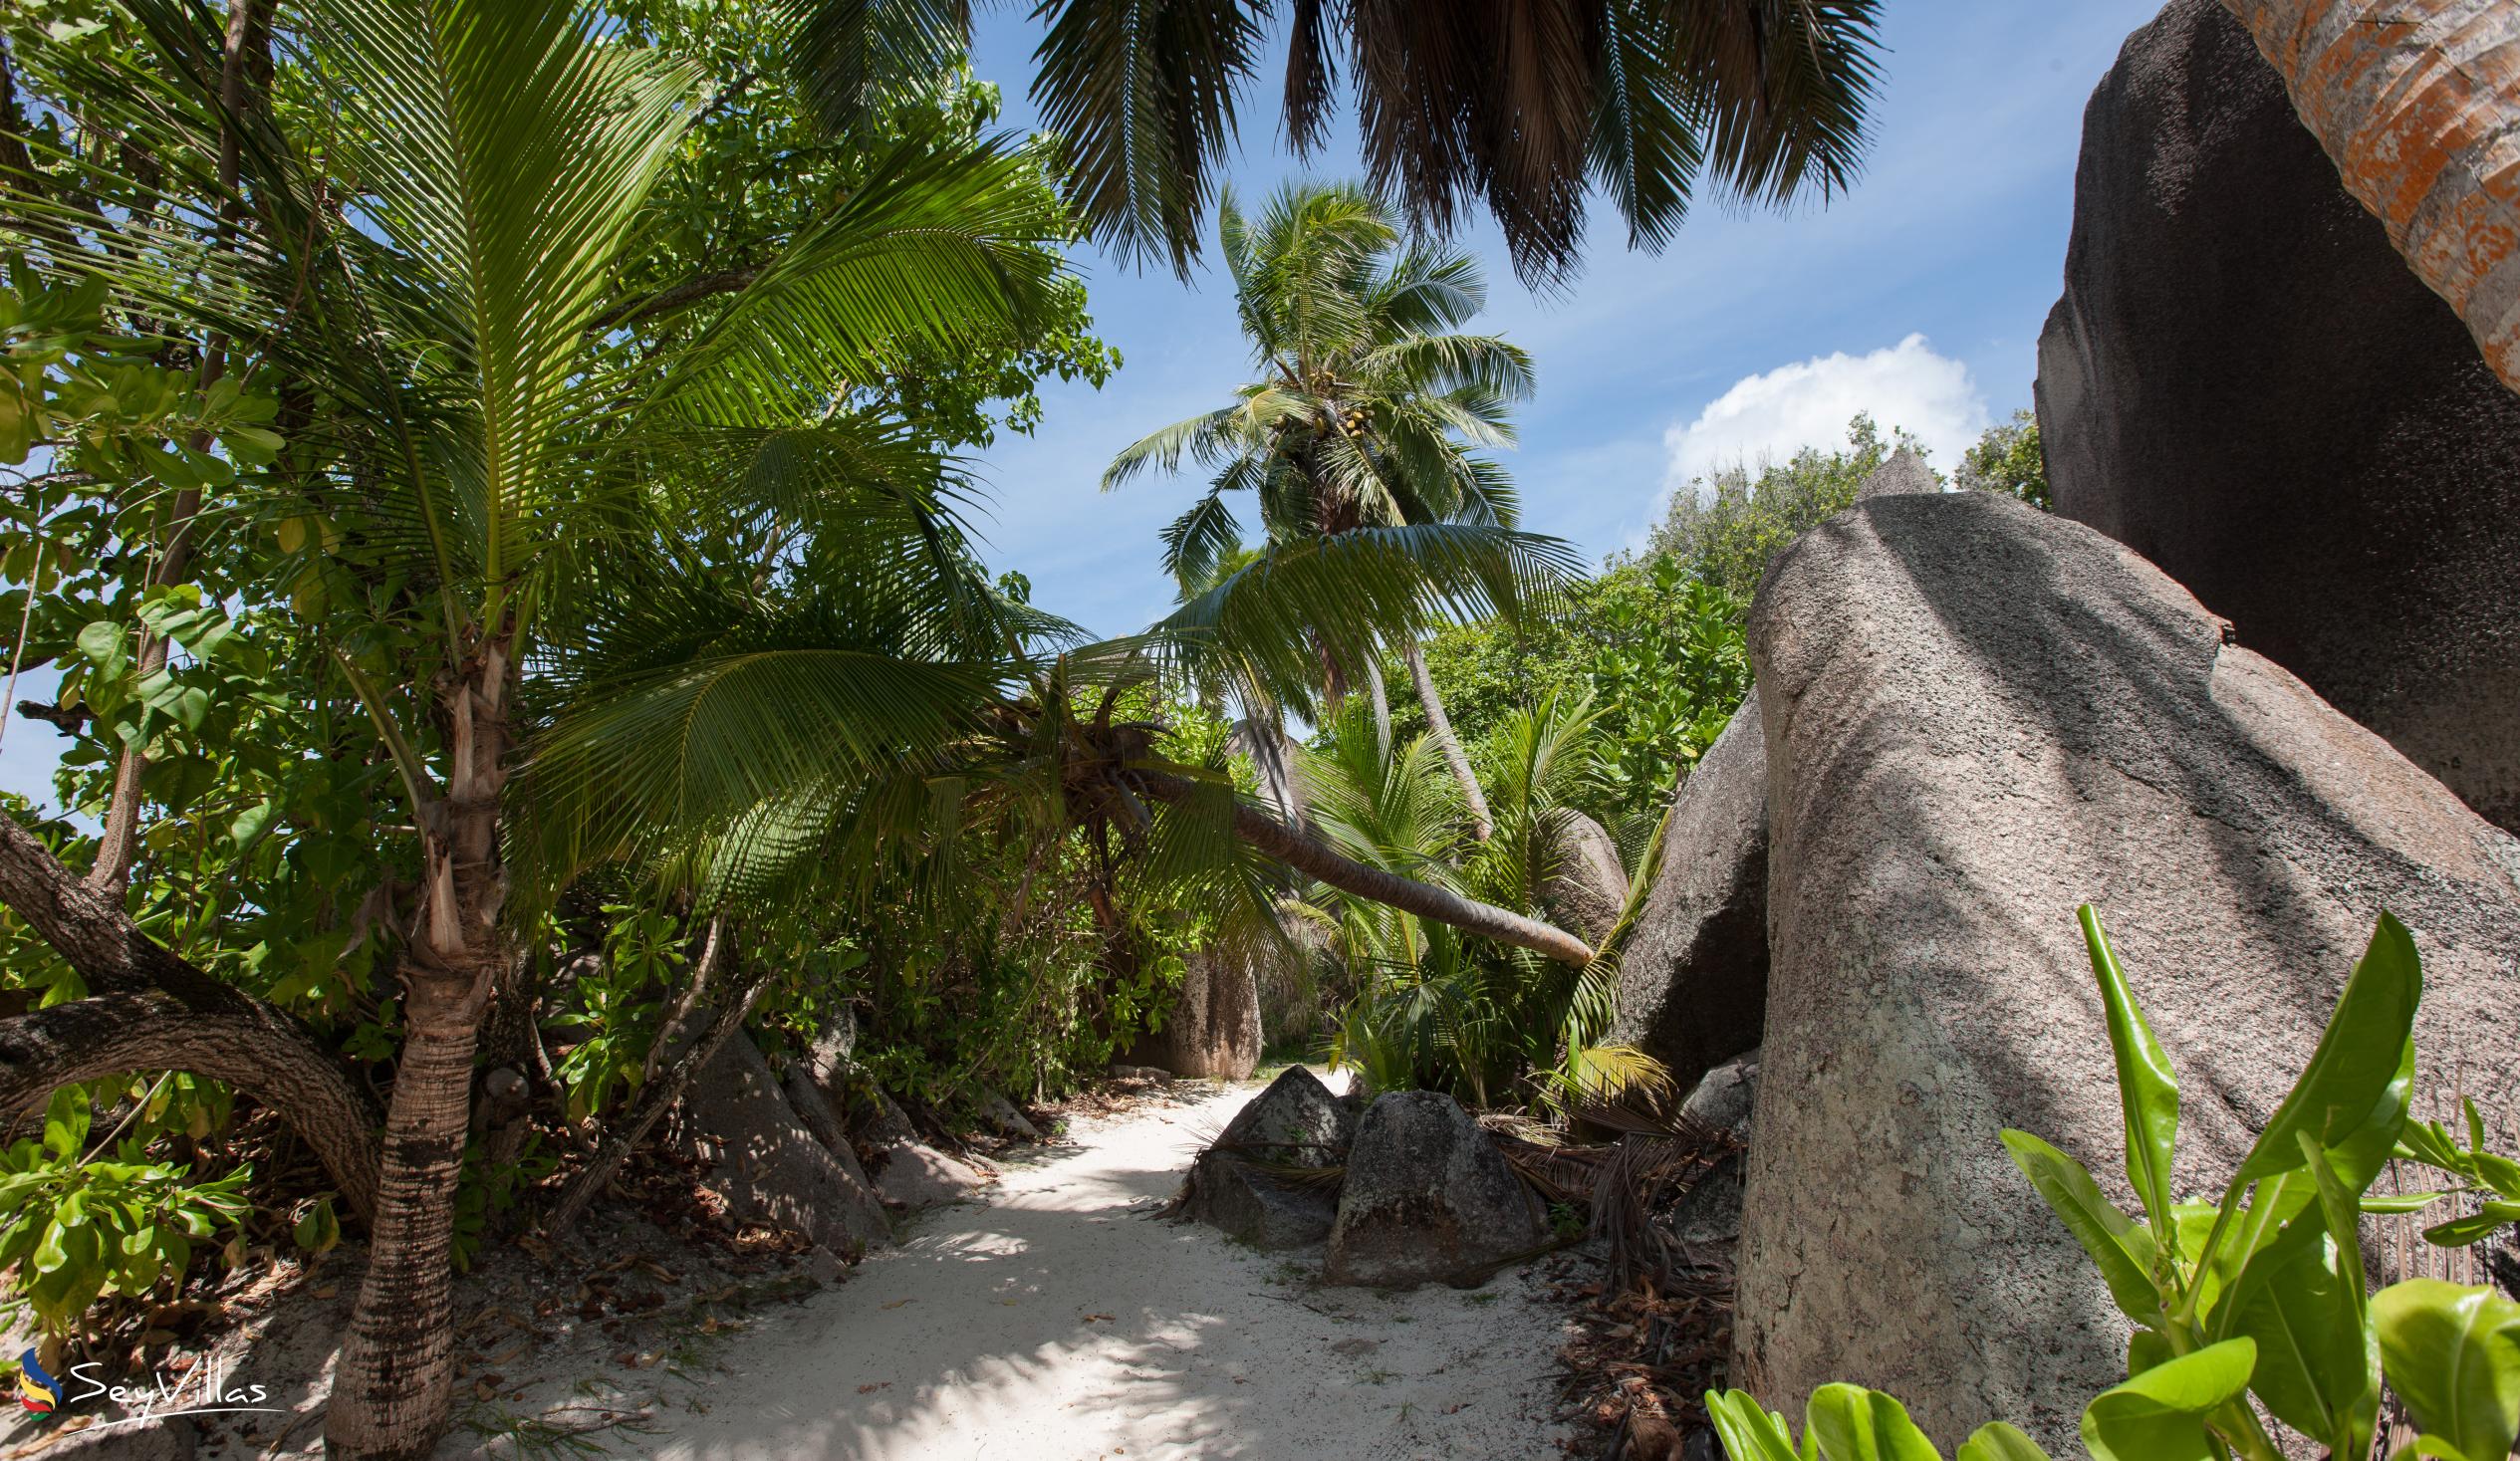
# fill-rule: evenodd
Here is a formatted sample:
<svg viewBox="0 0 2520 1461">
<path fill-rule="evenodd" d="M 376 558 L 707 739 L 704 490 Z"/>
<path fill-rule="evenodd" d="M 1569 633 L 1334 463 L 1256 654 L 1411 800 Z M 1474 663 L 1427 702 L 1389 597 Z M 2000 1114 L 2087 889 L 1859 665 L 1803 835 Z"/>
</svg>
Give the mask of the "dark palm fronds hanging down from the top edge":
<svg viewBox="0 0 2520 1461">
<path fill-rule="evenodd" d="M 1189 270 L 1270 0 L 1051 0 L 1033 101 L 1096 239 Z M 1366 176 L 1406 219 L 1484 204 L 1565 275 L 1598 186 L 1658 249 L 1704 181 L 1754 204 L 1852 184 L 1880 0 L 1288 0 L 1285 134 L 1318 149 L 1346 50 Z M 1341 45 L 1346 40 L 1346 45 Z"/>
</svg>

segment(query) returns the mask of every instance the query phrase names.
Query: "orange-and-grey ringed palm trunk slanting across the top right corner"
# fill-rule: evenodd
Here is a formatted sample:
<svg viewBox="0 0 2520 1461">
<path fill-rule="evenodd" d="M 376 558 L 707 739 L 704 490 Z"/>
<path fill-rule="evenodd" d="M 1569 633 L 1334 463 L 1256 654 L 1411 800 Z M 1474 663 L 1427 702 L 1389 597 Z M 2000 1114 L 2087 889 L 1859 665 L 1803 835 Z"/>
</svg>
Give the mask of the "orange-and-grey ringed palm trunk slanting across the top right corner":
<svg viewBox="0 0 2520 1461">
<path fill-rule="evenodd" d="M 2293 111 L 2520 390 L 2520 10 L 2510 0 L 2223 0 Z"/>
</svg>

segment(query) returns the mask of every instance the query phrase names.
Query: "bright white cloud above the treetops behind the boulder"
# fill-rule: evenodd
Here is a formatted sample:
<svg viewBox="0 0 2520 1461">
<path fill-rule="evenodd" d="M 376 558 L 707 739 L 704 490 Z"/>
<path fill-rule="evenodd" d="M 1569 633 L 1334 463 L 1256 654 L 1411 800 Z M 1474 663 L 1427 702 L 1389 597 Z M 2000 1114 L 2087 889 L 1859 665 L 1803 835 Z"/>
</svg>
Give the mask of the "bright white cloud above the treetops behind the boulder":
<svg viewBox="0 0 2520 1461">
<path fill-rule="evenodd" d="M 1870 355 L 1817 355 L 1744 375 L 1688 426 L 1663 433 L 1671 456 L 1663 494 L 1716 469 L 1764 458 L 1784 461 L 1804 446 L 1845 446 L 1847 421 L 1870 411 L 1882 436 L 1903 426 L 1923 438 L 1945 474 L 1988 426 L 1986 395 L 1968 365 L 1935 355 L 1923 335 Z"/>
</svg>

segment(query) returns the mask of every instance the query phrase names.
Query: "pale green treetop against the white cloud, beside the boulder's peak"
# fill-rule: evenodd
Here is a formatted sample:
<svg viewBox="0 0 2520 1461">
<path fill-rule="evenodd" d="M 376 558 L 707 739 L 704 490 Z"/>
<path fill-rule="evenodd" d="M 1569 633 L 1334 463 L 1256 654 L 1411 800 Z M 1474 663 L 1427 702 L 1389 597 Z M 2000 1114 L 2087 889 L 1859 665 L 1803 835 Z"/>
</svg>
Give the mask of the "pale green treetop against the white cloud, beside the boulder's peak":
<svg viewBox="0 0 2520 1461">
<path fill-rule="evenodd" d="M 1923 451 L 1905 431 L 1882 441 L 1872 418 L 1857 413 L 1847 423 L 1845 451 L 1804 446 L 1782 463 L 1734 463 L 1693 479 L 1671 494 L 1671 509 L 1653 529 L 1653 552 L 1681 559 L 1698 582 L 1749 602 L 1769 559 L 1845 511 L 1872 469 L 1903 446 Z"/>
</svg>

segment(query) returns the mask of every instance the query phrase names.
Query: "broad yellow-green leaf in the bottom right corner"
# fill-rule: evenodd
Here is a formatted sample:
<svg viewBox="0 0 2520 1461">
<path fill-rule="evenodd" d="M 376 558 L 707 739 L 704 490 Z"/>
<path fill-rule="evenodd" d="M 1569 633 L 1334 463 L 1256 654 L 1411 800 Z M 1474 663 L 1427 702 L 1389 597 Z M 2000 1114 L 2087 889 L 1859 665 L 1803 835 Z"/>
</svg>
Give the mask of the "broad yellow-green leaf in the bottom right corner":
<svg viewBox="0 0 2520 1461">
<path fill-rule="evenodd" d="M 2371 1300 L 2389 1388 L 2432 1436 L 2507 1456 L 2520 1436 L 2520 1302 L 2490 1287 L 2407 1280 Z"/>
</svg>

